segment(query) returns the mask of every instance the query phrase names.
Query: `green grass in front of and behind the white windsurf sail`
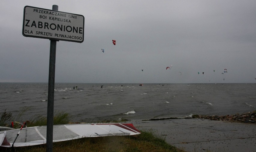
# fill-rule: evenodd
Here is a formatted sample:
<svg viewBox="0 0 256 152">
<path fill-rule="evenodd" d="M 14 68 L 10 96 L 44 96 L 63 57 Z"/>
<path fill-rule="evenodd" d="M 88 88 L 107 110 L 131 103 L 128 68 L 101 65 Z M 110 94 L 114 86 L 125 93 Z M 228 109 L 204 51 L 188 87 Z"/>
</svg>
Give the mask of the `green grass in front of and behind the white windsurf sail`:
<svg viewBox="0 0 256 152">
<path fill-rule="evenodd" d="M 6 111 L 2 114 L 3 125 L 9 124 L 12 119 L 11 113 Z M 1 121 L 2 121 L 1 117 Z M 9 119 L 10 118 L 10 119 Z M 54 115 L 54 125 L 68 124 L 71 116 L 63 111 L 57 112 Z M 110 123 L 111 121 L 106 121 Z M 6 123 L 6 124 L 5 124 Z M 47 118 L 44 116 L 33 116 L 27 125 L 29 127 L 46 125 Z M 141 134 L 135 136 L 104 136 L 104 137 L 87 137 L 73 139 L 63 142 L 53 142 L 53 151 L 58 152 L 184 152 L 165 142 L 165 139 L 153 130 L 140 130 Z M 0 147 L 2 152 L 45 152 L 46 144 L 5 148 Z"/>
</svg>

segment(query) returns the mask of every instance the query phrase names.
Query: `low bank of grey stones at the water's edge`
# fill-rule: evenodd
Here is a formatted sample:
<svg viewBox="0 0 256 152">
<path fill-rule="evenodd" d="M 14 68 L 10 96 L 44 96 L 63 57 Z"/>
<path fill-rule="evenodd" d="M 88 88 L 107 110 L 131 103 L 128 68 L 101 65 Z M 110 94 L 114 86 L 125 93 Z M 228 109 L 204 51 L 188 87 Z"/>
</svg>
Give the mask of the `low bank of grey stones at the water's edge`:
<svg viewBox="0 0 256 152">
<path fill-rule="evenodd" d="M 210 120 L 219 120 L 219 121 L 231 121 L 231 122 L 255 123 L 256 111 L 242 113 L 242 114 L 236 113 L 235 115 L 225 115 L 225 116 L 193 115 L 192 118 L 210 119 Z"/>
</svg>

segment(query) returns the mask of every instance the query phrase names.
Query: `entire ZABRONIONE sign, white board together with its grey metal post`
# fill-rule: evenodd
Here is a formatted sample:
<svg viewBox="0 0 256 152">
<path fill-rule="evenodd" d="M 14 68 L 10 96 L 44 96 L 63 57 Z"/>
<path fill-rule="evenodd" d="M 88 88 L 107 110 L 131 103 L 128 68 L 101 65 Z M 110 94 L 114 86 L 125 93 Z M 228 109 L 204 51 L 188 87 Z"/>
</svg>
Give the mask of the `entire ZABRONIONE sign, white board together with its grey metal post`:
<svg viewBox="0 0 256 152">
<path fill-rule="evenodd" d="M 52 152 L 56 42 L 62 40 L 82 43 L 84 16 L 60 12 L 58 5 L 53 5 L 52 10 L 25 6 L 22 34 L 26 37 L 50 39 L 46 151 Z"/>
</svg>

